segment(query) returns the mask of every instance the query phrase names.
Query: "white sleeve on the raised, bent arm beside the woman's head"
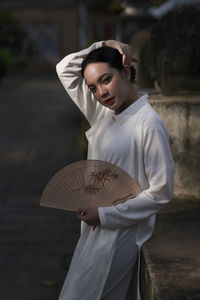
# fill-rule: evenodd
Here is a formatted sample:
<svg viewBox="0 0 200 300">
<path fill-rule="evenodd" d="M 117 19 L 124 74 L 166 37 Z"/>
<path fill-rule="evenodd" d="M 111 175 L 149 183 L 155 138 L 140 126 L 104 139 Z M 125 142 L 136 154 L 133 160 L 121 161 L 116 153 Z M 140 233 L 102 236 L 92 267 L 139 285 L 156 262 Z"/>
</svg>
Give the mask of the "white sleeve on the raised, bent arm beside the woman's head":
<svg viewBox="0 0 200 300">
<path fill-rule="evenodd" d="M 89 48 L 64 57 L 56 66 L 60 81 L 70 98 L 79 107 L 90 125 L 104 116 L 108 110 L 99 104 L 88 89 L 81 74 L 81 64 L 89 52 L 102 46 L 103 42 L 92 44 Z"/>
</svg>

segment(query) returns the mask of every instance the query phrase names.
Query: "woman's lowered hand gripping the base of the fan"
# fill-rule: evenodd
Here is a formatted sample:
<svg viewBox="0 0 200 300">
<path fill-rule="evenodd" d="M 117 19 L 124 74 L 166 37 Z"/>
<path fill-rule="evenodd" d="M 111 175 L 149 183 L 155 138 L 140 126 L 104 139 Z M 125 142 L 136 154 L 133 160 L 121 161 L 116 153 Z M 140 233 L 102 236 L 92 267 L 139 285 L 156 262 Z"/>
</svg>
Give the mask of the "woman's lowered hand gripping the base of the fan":
<svg viewBox="0 0 200 300">
<path fill-rule="evenodd" d="M 90 226 L 100 226 L 100 219 L 97 207 L 90 207 L 87 209 L 78 209 L 77 217 Z"/>
</svg>

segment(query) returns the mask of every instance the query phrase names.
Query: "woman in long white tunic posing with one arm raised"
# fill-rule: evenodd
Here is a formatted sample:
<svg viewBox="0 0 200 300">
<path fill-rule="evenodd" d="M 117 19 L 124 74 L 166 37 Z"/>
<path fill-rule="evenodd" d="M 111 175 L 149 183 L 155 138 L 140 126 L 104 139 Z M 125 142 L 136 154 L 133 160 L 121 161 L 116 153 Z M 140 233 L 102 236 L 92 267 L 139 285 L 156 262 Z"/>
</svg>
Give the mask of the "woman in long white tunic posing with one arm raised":
<svg viewBox="0 0 200 300">
<path fill-rule="evenodd" d="M 91 125 L 88 159 L 118 165 L 142 190 L 116 206 L 77 212 L 81 236 L 59 300 L 139 300 L 140 248 L 152 234 L 156 212 L 172 197 L 168 132 L 147 94 L 134 87 L 134 60 L 128 45 L 108 40 L 57 65 Z"/>
</svg>

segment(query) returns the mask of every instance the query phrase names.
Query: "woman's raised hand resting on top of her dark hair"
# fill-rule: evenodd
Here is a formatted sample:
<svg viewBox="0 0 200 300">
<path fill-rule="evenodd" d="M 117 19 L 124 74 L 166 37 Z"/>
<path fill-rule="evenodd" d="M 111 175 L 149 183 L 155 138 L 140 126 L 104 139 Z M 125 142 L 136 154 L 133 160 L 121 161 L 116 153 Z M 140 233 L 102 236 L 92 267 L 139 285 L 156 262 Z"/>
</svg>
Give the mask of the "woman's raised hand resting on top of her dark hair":
<svg viewBox="0 0 200 300">
<path fill-rule="evenodd" d="M 122 55 L 122 63 L 124 66 L 130 66 L 132 62 L 137 62 L 137 58 L 133 56 L 133 49 L 128 44 L 124 44 L 115 40 L 107 40 L 103 42 L 103 46 L 117 49 Z"/>
</svg>

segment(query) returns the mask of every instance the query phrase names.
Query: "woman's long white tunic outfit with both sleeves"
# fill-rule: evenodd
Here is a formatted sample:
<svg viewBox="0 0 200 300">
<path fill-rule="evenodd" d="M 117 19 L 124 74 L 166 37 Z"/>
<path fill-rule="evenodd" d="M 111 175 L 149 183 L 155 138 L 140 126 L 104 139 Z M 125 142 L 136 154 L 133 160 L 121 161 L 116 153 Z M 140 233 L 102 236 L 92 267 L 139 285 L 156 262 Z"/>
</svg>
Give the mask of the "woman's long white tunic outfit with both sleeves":
<svg viewBox="0 0 200 300">
<path fill-rule="evenodd" d="M 152 234 L 156 212 L 170 201 L 173 192 L 168 132 L 147 94 L 115 115 L 94 99 L 81 77 L 83 58 L 101 46 L 98 42 L 65 57 L 57 65 L 57 73 L 91 125 L 86 132 L 88 159 L 123 168 L 142 193 L 116 206 L 100 207 L 101 226 L 95 231 L 82 223 L 59 300 L 139 300 L 138 251 Z"/>
</svg>

